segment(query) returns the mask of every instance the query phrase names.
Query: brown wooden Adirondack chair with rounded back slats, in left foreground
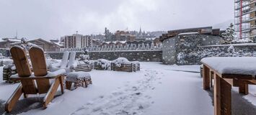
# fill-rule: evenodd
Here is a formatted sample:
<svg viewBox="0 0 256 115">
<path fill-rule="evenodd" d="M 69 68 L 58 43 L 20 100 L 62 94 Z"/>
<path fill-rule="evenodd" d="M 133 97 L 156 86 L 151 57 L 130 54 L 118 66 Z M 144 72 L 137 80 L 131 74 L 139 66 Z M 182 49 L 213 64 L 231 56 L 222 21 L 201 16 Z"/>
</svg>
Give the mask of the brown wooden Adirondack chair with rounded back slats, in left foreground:
<svg viewBox="0 0 256 115">
<path fill-rule="evenodd" d="M 10 51 L 18 73 L 17 76 L 12 76 L 11 79 L 20 80 L 21 83 L 8 101 L 6 101 L 5 111 L 12 111 L 22 93 L 25 98 L 29 94 L 47 93 L 43 99 L 44 108 L 53 99 L 59 85 L 61 86 L 61 93 L 63 93 L 63 75 L 60 74 L 61 70 L 56 72 L 56 74 L 53 73 L 51 76 L 48 74 L 45 55 L 40 47 L 32 47 L 29 50 L 34 74 L 32 74 L 27 56 L 22 47 L 12 47 Z M 53 83 L 50 83 L 49 79 L 54 79 Z"/>
</svg>

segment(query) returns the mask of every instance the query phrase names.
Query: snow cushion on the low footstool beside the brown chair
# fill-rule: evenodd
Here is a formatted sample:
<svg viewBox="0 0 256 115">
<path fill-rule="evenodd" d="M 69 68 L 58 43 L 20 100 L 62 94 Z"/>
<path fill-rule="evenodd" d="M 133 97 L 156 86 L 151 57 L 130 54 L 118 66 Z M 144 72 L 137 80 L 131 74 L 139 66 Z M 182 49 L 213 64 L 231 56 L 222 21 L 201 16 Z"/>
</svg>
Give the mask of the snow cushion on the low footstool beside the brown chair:
<svg viewBox="0 0 256 115">
<path fill-rule="evenodd" d="M 91 75 L 89 75 L 89 73 L 87 72 L 71 72 L 68 73 L 68 75 L 66 75 L 66 81 L 72 81 L 72 82 L 76 82 L 76 78 L 91 78 Z"/>
</svg>

